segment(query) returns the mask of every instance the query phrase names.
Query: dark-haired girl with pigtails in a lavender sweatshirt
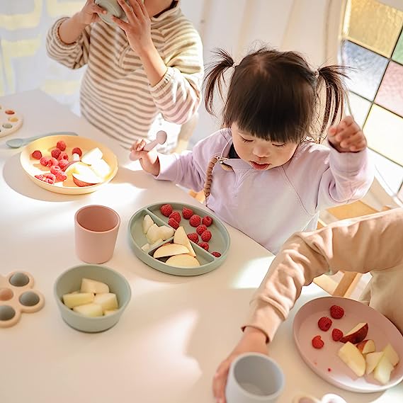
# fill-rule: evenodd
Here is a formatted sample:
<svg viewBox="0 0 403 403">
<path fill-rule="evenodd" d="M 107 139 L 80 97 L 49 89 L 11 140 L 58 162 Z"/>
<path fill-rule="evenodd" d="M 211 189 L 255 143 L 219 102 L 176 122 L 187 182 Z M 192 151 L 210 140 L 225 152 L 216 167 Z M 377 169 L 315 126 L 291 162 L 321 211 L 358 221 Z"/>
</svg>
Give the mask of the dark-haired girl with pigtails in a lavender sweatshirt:
<svg viewBox="0 0 403 403">
<path fill-rule="evenodd" d="M 214 114 L 216 90 L 223 98 L 231 74 L 223 128 L 182 154 L 144 151 L 144 140 L 132 154 L 159 180 L 204 189 L 208 208 L 276 254 L 294 232 L 315 229 L 320 210 L 362 198 L 373 181 L 361 127 L 339 118 L 346 71 L 311 69 L 296 52 L 267 47 L 239 64 L 225 50 L 215 56 L 205 106 Z"/>
</svg>

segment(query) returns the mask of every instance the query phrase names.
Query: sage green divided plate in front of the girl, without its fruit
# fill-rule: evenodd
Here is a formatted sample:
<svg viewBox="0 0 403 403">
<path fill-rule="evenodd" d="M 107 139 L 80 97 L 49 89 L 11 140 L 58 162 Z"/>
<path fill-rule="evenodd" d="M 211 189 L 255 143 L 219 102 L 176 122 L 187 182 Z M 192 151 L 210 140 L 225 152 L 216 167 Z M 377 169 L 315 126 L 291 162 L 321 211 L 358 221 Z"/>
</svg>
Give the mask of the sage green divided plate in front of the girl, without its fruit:
<svg viewBox="0 0 403 403">
<path fill-rule="evenodd" d="M 164 261 L 168 259 L 161 258 L 161 259 L 154 259 L 152 255 L 154 251 L 159 248 L 162 244 L 166 244 L 168 242 L 172 242 L 174 237 L 166 239 L 166 241 L 161 242 L 160 244 L 156 245 L 153 249 L 149 251 L 143 251 L 141 248 L 144 244 L 147 244 L 147 238 L 142 230 L 142 222 L 144 220 L 145 215 L 149 215 L 152 217 L 152 220 L 159 226 L 166 225 L 168 226 L 168 217 L 165 217 L 161 214 L 159 208 L 161 205 L 170 204 L 174 211 L 178 211 L 181 214 L 181 222 L 179 225 L 185 229 L 186 234 L 191 234 L 192 232 L 196 232 L 195 227 L 192 227 L 189 224 L 189 220 L 186 220 L 182 216 L 182 209 L 184 207 L 191 208 L 194 214 L 200 215 L 200 217 L 205 217 L 209 215 L 212 217 L 212 225 L 208 227 L 208 230 L 211 232 L 212 237 L 209 244 L 209 250 L 205 251 L 205 249 L 198 246 L 191 241 L 193 249 L 196 254 L 196 259 L 198 259 L 200 266 L 192 267 L 192 268 L 181 268 L 175 266 L 169 266 Z M 132 217 L 130 218 L 129 222 L 129 235 L 130 239 L 132 240 L 133 250 L 135 255 L 148 266 L 155 268 L 156 270 L 162 271 L 164 273 L 173 274 L 174 276 L 198 276 L 200 274 L 208 273 L 209 271 L 214 270 L 218 266 L 220 266 L 225 259 L 227 258 L 228 249 L 229 249 L 229 234 L 227 228 L 222 224 L 221 220 L 219 220 L 215 215 L 212 215 L 209 211 L 203 210 L 201 208 L 195 207 L 194 205 L 188 205 L 185 203 L 155 203 L 152 205 L 147 205 L 146 207 L 142 208 L 141 210 L 137 211 Z M 200 237 L 199 237 L 200 239 Z M 200 239 L 200 242 L 201 239 Z M 211 254 L 211 252 L 220 252 L 221 256 L 216 258 Z"/>
</svg>

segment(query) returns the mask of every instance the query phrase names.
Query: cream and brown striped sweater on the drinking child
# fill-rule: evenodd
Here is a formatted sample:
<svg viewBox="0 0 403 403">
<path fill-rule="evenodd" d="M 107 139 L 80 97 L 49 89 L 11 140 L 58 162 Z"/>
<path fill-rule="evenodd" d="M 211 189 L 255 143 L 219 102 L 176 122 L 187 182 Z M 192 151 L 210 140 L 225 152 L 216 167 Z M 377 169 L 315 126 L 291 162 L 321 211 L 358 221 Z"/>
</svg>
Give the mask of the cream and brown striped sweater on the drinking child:
<svg viewBox="0 0 403 403">
<path fill-rule="evenodd" d="M 153 139 L 157 130 L 169 127 L 163 151 L 172 149 L 179 125 L 200 105 L 203 80 L 200 35 L 178 2 L 151 18 L 152 40 L 167 66 L 153 87 L 123 30 L 100 21 L 88 25 L 76 42 L 67 45 L 58 33 L 64 19 L 50 28 L 47 53 L 71 69 L 87 66 L 80 90 L 82 115 L 125 148 L 139 138 Z"/>
</svg>

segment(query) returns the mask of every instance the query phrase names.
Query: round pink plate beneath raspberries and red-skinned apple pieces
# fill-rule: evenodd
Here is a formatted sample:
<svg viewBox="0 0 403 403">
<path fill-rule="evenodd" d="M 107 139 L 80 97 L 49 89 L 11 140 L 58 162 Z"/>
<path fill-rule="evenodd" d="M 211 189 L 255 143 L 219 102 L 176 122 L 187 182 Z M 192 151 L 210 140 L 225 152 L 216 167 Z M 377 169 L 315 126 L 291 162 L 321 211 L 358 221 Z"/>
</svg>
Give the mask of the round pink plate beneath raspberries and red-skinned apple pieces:
<svg viewBox="0 0 403 403">
<path fill-rule="evenodd" d="M 333 319 L 329 312 L 331 305 L 342 307 L 344 317 Z M 333 321 L 329 331 L 322 331 L 317 325 L 318 320 L 324 316 Z M 332 329 L 340 329 L 346 334 L 361 322 L 368 323 L 368 334 L 365 339 L 375 341 L 376 351 L 382 351 L 390 343 L 401 358 L 390 376 L 390 382 L 386 385 L 381 385 L 375 380 L 373 374 L 358 378 L 337 356 L 342 344 L 331 338 Z M 305 363 L 319 377 L 341 389 L 363 393 L 380 392 L 403 380 L 402 334 L 389 319 L 361 302 L 341 297 L 322 297 L 307 302 L 295 314 L 293 332 L 295 344 Z M 312 338 L 318 334 L 324 341 L 324 347 L 320 350 L 312 347 Z"/>
</svg>

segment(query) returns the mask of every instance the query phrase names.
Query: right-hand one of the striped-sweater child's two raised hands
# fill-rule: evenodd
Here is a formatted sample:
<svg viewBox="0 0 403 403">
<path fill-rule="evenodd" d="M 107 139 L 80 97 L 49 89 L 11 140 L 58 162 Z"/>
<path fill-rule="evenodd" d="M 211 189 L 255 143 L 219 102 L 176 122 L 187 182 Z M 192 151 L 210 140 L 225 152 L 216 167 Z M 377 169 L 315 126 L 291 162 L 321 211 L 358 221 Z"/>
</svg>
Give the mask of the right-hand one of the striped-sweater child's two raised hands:
<svg viewBox="0 0 403 403">
<path fill-rule="evenodd" d="M 125 31 L 127 40 L 132 47 L 140 54 L 147 47 L 152 47 L 151 38 L 151 20 L 142 0 L 128 0 L 130 6 L 125 0 L 118 0 L 118 3 L 125 11 L 127 23 L 119 18 L 112 17 L 113 21 Z"/>
</svg>

